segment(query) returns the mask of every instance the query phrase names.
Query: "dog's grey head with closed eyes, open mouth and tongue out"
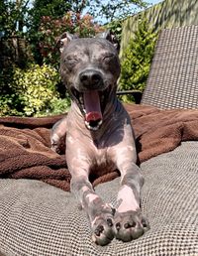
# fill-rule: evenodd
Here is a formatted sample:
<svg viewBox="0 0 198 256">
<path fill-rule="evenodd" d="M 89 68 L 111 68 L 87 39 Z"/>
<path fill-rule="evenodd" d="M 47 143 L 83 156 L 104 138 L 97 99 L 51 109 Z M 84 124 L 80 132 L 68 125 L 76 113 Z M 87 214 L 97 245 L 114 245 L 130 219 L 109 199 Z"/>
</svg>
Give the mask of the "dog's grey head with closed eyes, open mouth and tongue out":
<svg viewBox="0 0 198 256">
<path fill-rule="evenodd" d="M 97 130 L 120 75 L 118 44 L 109 32 L 96 38 L 60 38 L 60 75 L 88 129 Z"/>
</svg>

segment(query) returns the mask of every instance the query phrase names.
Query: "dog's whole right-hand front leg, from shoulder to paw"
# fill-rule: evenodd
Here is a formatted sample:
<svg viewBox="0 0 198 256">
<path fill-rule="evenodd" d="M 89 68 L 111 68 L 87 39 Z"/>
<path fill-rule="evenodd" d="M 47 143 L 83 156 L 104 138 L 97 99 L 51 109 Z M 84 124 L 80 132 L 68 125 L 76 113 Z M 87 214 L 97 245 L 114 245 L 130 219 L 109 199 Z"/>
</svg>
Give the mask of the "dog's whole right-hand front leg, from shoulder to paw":
<svg viewBox="0 0 198 256">
<path fill-rule="evenodd" d="M 140 207 L 144 178 L 135 164 L 136 147 L 130 126 L 125 129 L 124 139 L 114 154 L 121 173 L 121 188 L 117 197 L 119 205 L 114 217 L 116 237 L 128 242 L 139 238 L 149 228 Z"/>
</svg>

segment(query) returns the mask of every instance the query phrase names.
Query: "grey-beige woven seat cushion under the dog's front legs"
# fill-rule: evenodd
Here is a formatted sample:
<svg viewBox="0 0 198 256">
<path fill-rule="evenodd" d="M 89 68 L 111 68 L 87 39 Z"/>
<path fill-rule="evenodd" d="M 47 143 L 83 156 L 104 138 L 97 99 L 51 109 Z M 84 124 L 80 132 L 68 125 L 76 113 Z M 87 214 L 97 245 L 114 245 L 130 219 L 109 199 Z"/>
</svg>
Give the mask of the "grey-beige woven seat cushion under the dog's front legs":
<svg viewBox="0 0 198 256">
<path fill-rule="evenodd" d="M 77 200 L 40 181 L 0 180 L 0 252 L 6 256 L 198 255 L 198 142 L 142 164 L 146 179 L 142 208 L 150 230 L 137 240 L 114 239 L 105 247 L 91 240 Z M 120 178 L 96 187 L 113 205 Z M 0 253 L 0 255 L 1 255 Z"/>
</svg>

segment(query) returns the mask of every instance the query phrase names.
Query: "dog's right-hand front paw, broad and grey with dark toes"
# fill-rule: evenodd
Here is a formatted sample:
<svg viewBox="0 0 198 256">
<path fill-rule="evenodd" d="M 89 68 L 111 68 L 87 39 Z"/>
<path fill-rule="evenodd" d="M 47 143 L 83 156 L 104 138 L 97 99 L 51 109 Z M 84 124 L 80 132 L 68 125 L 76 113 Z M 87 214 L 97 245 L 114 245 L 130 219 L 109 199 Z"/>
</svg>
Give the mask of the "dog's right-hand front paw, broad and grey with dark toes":
<svg viewBox="0 0 198 256">
<path fill-rule="evenodd" d="M 116 238 L 129 242 L 142 236 L 149 229 L 148 220 L 141 211 L 116 212 L 114 216 Z"/>
</svg>

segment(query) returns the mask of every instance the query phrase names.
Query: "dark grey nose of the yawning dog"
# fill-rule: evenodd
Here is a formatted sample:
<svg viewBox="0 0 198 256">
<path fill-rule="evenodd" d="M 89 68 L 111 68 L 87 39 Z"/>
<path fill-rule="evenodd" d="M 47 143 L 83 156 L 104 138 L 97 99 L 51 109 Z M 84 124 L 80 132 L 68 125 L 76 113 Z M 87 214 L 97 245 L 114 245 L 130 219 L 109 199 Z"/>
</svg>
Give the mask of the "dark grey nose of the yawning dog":
<svg viewBox="0 0 198 256">
<path fill-rule="evenodd" d="M 93 69 L 82 71 L 79 78 L 81 84 L 87 88 L 97 88 L 102 82 L 102 74 Z"/>
</svg>

